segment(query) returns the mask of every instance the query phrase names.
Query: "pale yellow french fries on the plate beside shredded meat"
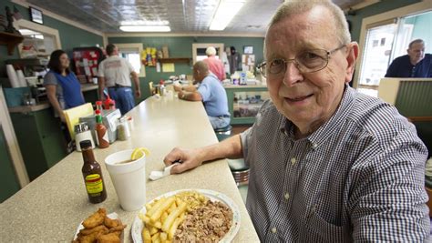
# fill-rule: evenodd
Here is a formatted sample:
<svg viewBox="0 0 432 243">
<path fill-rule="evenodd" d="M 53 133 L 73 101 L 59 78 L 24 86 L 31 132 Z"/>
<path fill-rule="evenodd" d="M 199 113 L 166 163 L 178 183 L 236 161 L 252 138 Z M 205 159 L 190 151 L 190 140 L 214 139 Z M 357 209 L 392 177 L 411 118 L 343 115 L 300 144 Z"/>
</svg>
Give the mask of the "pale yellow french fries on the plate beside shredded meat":
<svg viewBox="0 0 432 243">
<path fill-rule="evenodd" d="M 161 197 L 147 204 L 146 214 L 139 213 L 144 223 L 141 235 L 145 243 L 172 242 L 185 214 L 206 203 L 207 197 L 198 192 L 181 192 L 170 197 Z"/>
</svg>

